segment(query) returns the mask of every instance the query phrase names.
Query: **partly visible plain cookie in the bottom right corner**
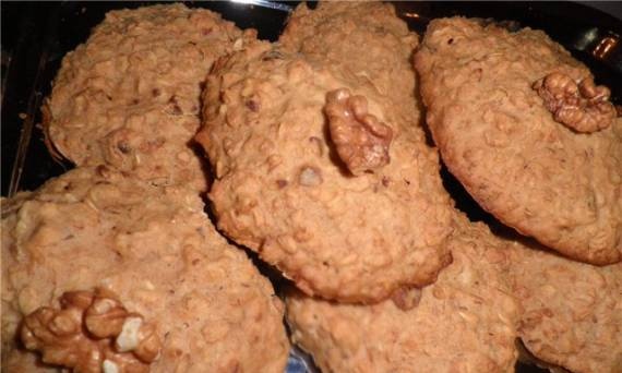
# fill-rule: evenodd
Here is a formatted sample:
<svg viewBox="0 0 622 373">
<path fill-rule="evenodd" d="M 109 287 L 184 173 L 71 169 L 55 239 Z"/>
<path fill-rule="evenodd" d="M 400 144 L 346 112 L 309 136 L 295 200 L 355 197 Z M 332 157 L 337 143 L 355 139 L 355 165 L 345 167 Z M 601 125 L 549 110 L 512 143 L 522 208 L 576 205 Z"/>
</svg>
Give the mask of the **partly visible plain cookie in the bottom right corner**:
<svg viewBox="0 0 622 373">
<path fill-rule="evenodd" d="M 527 349 L 572 372 L 621 372 L 622 265 L 596 267 L 518 243 L 511 260 Z"/>
</svg>

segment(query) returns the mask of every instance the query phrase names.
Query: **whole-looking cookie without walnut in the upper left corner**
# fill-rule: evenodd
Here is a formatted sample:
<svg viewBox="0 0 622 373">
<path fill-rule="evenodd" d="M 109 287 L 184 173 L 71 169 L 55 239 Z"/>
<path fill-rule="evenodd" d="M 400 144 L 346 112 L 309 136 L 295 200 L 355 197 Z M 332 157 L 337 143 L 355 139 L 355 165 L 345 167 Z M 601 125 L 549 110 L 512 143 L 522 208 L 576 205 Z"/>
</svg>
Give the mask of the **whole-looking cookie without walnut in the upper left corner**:
<svg viewBox="0 0 622 373">
<path fill-rule="evenodd" d="M 154 184 L 205 190 L 190 145 L 201 87 L 242 37 L 254 36 L 182 4 L 107 13 L 62 61 L 44 106 L 48 140 L 79 166 L 108 164 Z"/>
</svg>

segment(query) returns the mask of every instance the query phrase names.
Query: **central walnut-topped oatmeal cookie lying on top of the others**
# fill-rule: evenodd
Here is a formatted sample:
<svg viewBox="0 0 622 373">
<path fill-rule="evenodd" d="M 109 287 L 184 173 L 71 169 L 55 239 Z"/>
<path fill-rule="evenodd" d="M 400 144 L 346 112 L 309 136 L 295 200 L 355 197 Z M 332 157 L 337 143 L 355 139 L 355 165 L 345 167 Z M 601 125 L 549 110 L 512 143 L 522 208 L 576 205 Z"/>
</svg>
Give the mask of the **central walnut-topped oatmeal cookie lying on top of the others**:
<svg viewBox="0 0 622 373">
<path fill-rule="evenodd" d="M 361 80 L 267 43 L 219 61 L 198 140 L 218 227 L 308 294 L 376 302 L 448 263 L 435 152 Z"/>
</svg>

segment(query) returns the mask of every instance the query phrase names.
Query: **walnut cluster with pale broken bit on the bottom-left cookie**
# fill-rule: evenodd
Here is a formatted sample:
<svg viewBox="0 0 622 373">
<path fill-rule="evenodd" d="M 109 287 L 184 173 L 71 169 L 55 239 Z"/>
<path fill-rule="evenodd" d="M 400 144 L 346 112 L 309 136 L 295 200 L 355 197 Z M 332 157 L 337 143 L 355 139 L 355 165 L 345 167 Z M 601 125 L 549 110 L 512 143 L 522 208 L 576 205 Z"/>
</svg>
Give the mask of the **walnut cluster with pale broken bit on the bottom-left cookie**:
<svg viewBox="0 0 622 373">
<path fill-rule="evenodd" d="M 24 318 L 20 337 L 45 363 L 75 372 L 148 372 L 160 341 L 153 325 L 109 291 L 70 291 L 60 310 L 41 306 Z"/>
</svg>

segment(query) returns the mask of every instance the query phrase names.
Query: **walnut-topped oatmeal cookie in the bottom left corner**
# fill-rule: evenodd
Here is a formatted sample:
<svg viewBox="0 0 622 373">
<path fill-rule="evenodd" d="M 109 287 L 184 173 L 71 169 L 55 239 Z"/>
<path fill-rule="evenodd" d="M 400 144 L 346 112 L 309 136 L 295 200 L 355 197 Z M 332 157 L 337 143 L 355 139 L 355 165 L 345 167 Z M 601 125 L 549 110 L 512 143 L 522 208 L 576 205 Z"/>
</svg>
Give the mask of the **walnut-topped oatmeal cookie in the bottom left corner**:
<svg viewBox="0 0 622 373">
<path fill-rule="evenodd" d="M 2 207 L 3 368 L 33 369 L 17 334 L 83 372 L 283 372 L 283 304 L 192 190 L 100 166 Z"/>
</svg>

